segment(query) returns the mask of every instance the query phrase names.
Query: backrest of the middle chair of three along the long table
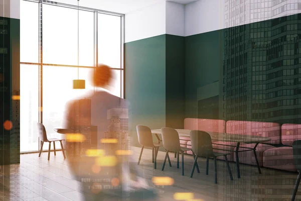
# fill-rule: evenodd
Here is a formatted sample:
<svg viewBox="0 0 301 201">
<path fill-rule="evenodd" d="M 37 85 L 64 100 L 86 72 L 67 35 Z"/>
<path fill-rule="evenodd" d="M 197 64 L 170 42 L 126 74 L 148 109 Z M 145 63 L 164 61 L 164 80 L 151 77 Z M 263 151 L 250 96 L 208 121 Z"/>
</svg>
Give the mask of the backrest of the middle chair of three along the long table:
<svg viewBox="0 0 301 201">
<path fill-rule="evenodd" d="M 163 127 L 161 128 L 162 141 L 165 149 L 169 151 L 181 152 L 179 134 L 175 129 Z"/>
</svg>

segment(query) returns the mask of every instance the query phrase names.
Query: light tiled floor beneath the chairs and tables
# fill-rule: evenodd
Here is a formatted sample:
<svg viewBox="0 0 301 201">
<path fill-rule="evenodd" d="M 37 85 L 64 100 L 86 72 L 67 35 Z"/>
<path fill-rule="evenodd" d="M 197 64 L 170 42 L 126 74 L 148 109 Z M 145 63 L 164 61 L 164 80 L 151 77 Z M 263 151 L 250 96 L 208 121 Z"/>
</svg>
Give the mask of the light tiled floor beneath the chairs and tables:
<svg viewBox="0 0 301 201">
<path fill-rule="evenodd" d="M 140 148 L 133 148 L 134 158 L 137 160 Z M 296 173 L 262 168 L 262 174 L 257 167 L 241 165 L 241 178 L 236 175 L 236 164 L 230 162 L 234 177 L 231 181 L 224 161 L 218 161 L 218 184 L 214 184 L 213 161 L 209 162 L 209 175 L 205 174 L 206 160 L 199 158 L 200 173 L 195 170 L 194 177 L 190 178 L 193 157 L 185 155 L 185 176 L 181 176 L 177 169 L 176 158 L 170 153 L 172 167 L 168 163 L 162 171 L 165 153 L 159 152 L 157 169 L 153 168 L 152 150 L 144 149 L 140 162 L 140 170 L 150 186 L 156 188 L 156 200 L 174 200 L 175 192 L 192 192 L 194 197 L 202 200 L 290 200 L 291 192 L 296 179 Z M 181 159 L 180 159 L 181 161 Z M 51 153 L 50 161 L 47 153 L 22 154 L 21 163 L 0 166 L 0 200 L 83 200 L 80 192 L 80 183 L 69 172 L 67 161 L 62 152 L 54 156 Z M 173 186 L 155 186 L 153 176 L 169 176 L 175 180 Z M 300 186 L 301 188 L 301 186 Z M 301 191 L 298 190 L 295 200 L 301 200 Z"/>
</svg>

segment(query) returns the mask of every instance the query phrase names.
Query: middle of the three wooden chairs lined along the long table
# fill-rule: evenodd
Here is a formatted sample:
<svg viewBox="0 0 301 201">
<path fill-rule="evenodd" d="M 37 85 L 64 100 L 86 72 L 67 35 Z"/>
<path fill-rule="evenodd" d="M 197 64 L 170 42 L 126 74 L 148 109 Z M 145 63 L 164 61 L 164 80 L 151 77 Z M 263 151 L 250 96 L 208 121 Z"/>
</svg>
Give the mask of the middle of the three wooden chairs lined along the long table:
<svg viewBox="0 0 301 201">
<path fill-rule="evenodd" d="M 184 152 L 190 151 L 191 148 L 181 147 L 180 145 L 180 138 L 179 134 L 175 129 L 164 127 L 161 129 L 162 131 L 162 141 L 163 146 L 166 149 L 166 155 L 162 166 L 162 171 L 164 170 L 166 159 L 169 158 L 168 152 L 177 152 L 177 168 L 179 168 L 179 153 L 182 153 L 182 176 L 184 176 Z M 195 157 L 195 154 L 193 153 L 193 156 Z M 171 166 L 171 164 L 170 164 Z M 197 164 L 197 170 L 199 170 L 199 166 Z"/>
</svg>

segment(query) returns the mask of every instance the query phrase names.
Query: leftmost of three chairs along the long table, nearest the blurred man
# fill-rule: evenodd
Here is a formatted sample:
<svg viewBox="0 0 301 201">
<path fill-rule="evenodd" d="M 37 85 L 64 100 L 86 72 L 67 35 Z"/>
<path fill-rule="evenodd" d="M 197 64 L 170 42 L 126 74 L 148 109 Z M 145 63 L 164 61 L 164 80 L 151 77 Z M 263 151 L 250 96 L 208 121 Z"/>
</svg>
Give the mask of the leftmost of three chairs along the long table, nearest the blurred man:
<svg viewBox="0 0 301 201">
<path fill-rule="evenodd" d="M 140 156 L 138 159 L 138 165 L 140 163 L 144 147 L 152 147 L 154 168 L 157 169 L 157 155 L 158 155 L 159 148 L 162 147 L 163 144 L 161 144 L 160 141 L 158 143 L 153 142 L 152 131 L 150 131 L 150 129 L 147 126 L 137 125 L 136 129 L 137 129 L 139 144 L 142 145 Z M 170 159 L 169 159 L 169 163 L 171 166 Z"/>
</svg>

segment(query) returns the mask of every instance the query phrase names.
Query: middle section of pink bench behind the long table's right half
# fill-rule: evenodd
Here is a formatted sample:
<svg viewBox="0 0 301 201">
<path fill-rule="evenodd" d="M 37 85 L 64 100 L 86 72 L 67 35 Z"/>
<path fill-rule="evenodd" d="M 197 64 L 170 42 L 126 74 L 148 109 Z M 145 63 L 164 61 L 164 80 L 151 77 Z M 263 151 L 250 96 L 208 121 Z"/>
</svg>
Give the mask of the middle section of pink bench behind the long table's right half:
<svg viewBox="0 0 301 201">
<path fill-rule="evenodd" d="M 280 144 L 281 132 L 280 125 L 277 123 L 269 122 L 249 122 L 249 121 L 228 121 L 226 123 L 227 133 L 253 135 L 260 137 L 268 137 L 271 140 L 266 142 L 268 144 Z M 234 143 L 235 145 L 236 143 Z M 254 148 L 256 144 L 240 144 L 242 147 Z M 256 155 L 260 166 L 263 165 L 263 152 L 267 149 L 274 148 L 272 145 L 258 144 L 256 147 Z M 233 147 L 236 150 L 236 147 Z M 239 148 L 239 150 L 246 150 L 245 148 Z M 233 153 L 235 154 L 235 153 Z M 239 162 L 257 165 L 253 151 L 244 151 L 238 153 Z M 234 157 L 236 161 L 236 157 Z"/>
</svg>

